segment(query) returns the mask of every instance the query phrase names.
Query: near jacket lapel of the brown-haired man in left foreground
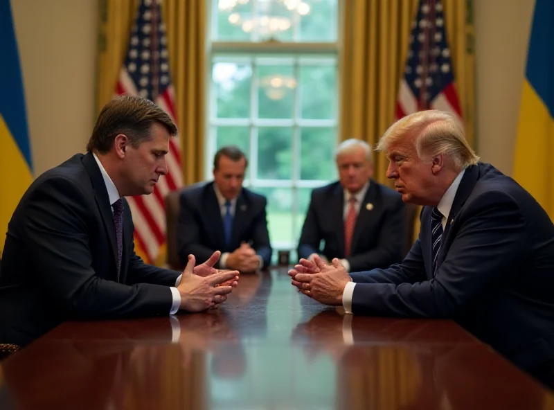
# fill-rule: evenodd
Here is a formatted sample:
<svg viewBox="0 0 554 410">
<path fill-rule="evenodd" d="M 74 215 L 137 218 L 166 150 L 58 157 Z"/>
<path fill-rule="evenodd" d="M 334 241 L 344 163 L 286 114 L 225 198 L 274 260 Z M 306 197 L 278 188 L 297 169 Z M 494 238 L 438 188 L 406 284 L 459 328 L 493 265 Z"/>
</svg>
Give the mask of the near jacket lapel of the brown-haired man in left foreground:
<svg viewBox="0 0 554 410">
<path fill-rule="evenodd" d="M 106 184 L 102 178 L 102 172 L 98 168 L 96 159 L 94 159 L 91 152 L 84 155 L 82 159 L 84 168 L 89 173 L 89 177 L 92 181 L 92 186 L 94 188 L 94 199 L 96 200 L 96 205 L 102 216 L 102 222 L 104 224 L 106 234 L 109 238 L 109 243 L 111 244 L 111 256 L 114 258 L 114 264 L 117 271 L 117 241 L 116 241 L 116 226 L 114 224 L 114 214 L 111 212 L 111 204 L 109 203 L 108 191 L 106 189 Z"/>
</svg>

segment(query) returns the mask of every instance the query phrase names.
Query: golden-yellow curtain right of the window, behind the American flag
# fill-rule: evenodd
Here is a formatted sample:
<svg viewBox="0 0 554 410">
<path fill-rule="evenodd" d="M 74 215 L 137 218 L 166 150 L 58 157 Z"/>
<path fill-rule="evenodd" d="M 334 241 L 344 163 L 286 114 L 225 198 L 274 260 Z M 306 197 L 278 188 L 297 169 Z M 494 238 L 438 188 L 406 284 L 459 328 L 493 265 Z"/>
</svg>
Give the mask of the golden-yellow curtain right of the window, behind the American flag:
<svg viewBox="0 0 554 410">
<path fill-rule="evenodd" d="M 474 146 L 472 0 L 443 0 L 454 76 L 467 139 Z M 341 44 L 340 137 L 375 145 L 393 123 L 398 85 L 418 0 L 346 0 Z M 389 184 L 384 154 L 375 156 L 375 179 Z"/>
</svg>

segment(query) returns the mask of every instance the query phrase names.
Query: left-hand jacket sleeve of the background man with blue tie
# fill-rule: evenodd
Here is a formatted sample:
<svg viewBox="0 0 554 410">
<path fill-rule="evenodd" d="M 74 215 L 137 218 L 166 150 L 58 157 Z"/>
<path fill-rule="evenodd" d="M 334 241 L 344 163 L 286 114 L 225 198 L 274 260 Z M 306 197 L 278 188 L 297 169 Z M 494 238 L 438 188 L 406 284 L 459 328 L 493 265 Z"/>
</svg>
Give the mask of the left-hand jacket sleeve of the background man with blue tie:
<svg viewBox="0 0 554 410">
<path fill-rule="evenodd" d="M 179 198 L 179 218 L 177 219 L 177 250 L 181 263 L 186 265 L 188 256 L 192 253 L 198 263 L 208 260 L 217 250 L 206 247 L 200 240 L 200 226 L 195 215 L 195 206 L 190 197 L 181 195 Z M 219 261 L 215 265 L 219 267 Z"/>
</svg>

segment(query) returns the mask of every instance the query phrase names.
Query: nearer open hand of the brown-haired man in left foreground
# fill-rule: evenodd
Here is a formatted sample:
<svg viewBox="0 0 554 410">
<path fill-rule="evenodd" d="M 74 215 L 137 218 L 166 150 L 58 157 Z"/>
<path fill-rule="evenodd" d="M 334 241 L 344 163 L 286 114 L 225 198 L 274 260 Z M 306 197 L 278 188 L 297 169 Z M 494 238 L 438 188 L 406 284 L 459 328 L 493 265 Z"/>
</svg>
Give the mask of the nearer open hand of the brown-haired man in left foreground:
<svg viewBox="0 0 554 410">
<path fill-rule="evenodd" d="M 211 259 L 211 258 L 210 258 Z M 181 282 L 177 290 L 181 294 L 180 309 L 188 312 L 201 312 L 214 308 L 218 303 L 226 300 L 226 294 L 231 293 L 233 287 L 238 285 L 238 271 L 220 271 L 202 278 L 193 274 L 195 257 L 188 256 L 188 263 L 181 276 Z M 231 280 L 230 286 L 222 286 Z"/>
</svg>

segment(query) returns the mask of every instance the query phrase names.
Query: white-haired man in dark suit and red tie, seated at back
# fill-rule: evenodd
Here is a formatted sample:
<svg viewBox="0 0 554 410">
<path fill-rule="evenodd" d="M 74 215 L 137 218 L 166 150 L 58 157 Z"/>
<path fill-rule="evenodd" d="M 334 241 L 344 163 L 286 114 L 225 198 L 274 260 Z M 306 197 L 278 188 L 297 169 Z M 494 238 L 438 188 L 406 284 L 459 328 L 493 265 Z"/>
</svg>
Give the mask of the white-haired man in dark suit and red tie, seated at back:
<svg viewBox="0 0 554 410">
<path fill-rule="evenodd" d="M 339 181 L 312 191 L 298 257 L 313 260 L 324 240 L 321 258 L 339 258 L 346 271 L 400 262 L 406 240 L 404 202 L 394 190 L 370 179 L 370 146 L 346 140 L 335 159 Z"/>
</svg>

